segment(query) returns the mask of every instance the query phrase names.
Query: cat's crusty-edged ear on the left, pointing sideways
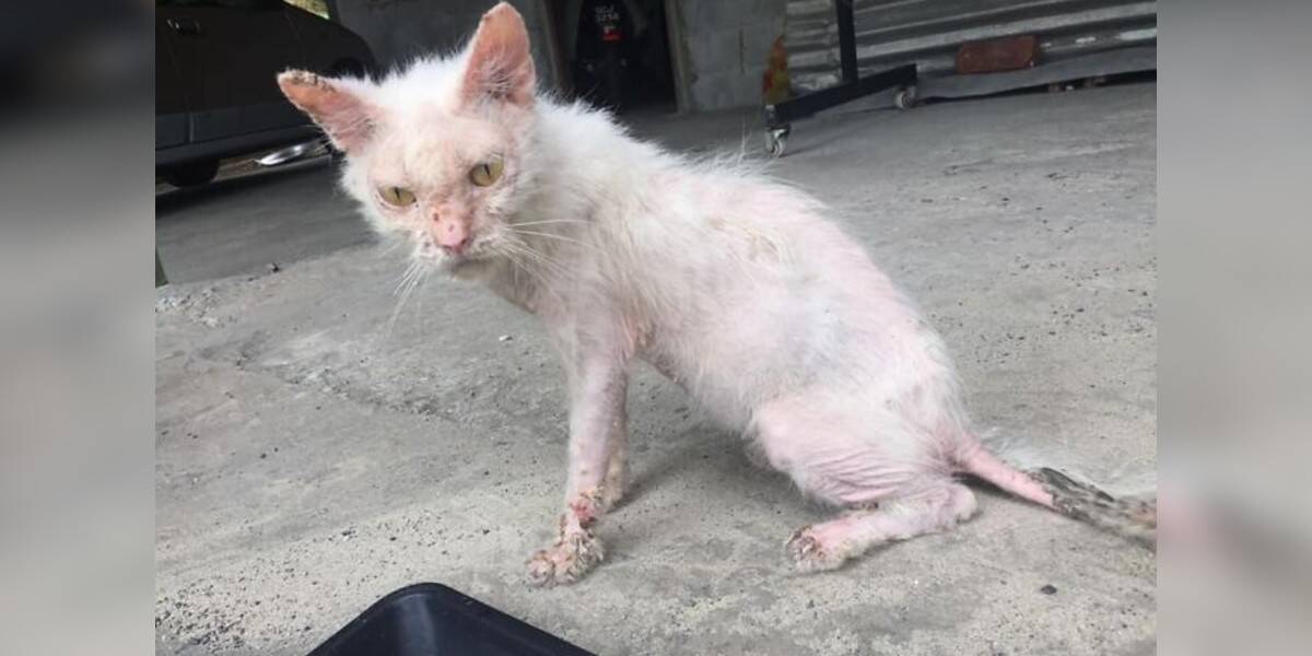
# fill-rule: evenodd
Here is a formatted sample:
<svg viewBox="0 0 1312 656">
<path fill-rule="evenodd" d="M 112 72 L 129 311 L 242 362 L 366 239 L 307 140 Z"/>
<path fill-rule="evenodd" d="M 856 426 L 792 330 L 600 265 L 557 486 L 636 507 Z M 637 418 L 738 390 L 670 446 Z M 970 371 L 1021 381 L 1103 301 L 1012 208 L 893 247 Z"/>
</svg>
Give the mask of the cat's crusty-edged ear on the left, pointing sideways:
<svg viewBox="0 0 1312 656">
<path fill-rule="evenodd" d="M 278 88 L 324 129 L 338 150 L 356 154 L 369 143 L 374 131 L 374 110 L 358 91 L 307 71 L 279 73 Z"/>
</svg>

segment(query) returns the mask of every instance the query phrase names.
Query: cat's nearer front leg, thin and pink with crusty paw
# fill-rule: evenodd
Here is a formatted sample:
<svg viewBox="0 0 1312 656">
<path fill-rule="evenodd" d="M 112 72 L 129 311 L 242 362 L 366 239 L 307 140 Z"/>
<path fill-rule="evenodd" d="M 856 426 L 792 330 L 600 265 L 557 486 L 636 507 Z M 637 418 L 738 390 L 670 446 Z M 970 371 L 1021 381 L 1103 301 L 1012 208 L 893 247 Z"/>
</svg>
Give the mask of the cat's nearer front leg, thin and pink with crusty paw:
<svg viewBox="0 0 1312 656">
<path fill-rule="evenodd" d="M 594 527 L 618 499 L 625 442 L 625 395 L 628 384 L 622 358 L 592 358 L 571 378 L 569 479 L 565 509 L 556 541 L 529 559 L 529 580 L 537 585 L 573 583 L 597 565 L 605 551 Z"/>
</svg>

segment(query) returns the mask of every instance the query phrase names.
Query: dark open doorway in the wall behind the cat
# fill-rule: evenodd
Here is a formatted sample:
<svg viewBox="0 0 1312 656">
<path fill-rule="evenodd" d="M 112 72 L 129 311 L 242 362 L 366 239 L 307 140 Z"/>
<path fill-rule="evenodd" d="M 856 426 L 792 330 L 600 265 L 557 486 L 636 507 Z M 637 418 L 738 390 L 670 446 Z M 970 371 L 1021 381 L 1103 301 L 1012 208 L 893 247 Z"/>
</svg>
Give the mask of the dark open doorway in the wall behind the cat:
<svg viewBox="0 0 1312 656">
<path fill-rule="evenodd" d="M 548 0 L 573 97 L 630 110 L 674 110 L 664 0 Z"/>
</svg>

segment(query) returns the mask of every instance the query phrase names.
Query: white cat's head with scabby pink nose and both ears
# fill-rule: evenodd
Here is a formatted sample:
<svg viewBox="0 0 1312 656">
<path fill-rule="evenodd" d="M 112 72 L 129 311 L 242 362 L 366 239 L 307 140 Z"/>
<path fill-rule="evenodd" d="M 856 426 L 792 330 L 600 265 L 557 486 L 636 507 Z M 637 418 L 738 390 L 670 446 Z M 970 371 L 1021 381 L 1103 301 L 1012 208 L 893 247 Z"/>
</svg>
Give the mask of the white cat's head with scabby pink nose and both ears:
<svg viewBox="0 0 1312 656">
<path fill-rule="evenodd" d="M 496 257 L 531 185 L 534 68 L 523 18 L 501 3 L 463 52 L 374 83 L 304 71 L 287 98 L 346 155 L 345 189 L 384 234 L 449 270 Z"/>
</svg>

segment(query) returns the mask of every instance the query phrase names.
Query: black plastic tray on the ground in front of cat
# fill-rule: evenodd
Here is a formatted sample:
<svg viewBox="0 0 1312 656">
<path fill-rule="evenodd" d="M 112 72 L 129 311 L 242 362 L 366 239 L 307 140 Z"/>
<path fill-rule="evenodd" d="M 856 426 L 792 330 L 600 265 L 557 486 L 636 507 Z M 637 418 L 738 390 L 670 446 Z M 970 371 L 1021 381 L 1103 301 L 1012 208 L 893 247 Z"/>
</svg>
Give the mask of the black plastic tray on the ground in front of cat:
<svg viewBox="0 0 1312 656">
<path fill-rule="evenodd" d="M 310 656 L 592 656 L 541 628 L 436 583 L 401 588 Z"/>
</svg>

